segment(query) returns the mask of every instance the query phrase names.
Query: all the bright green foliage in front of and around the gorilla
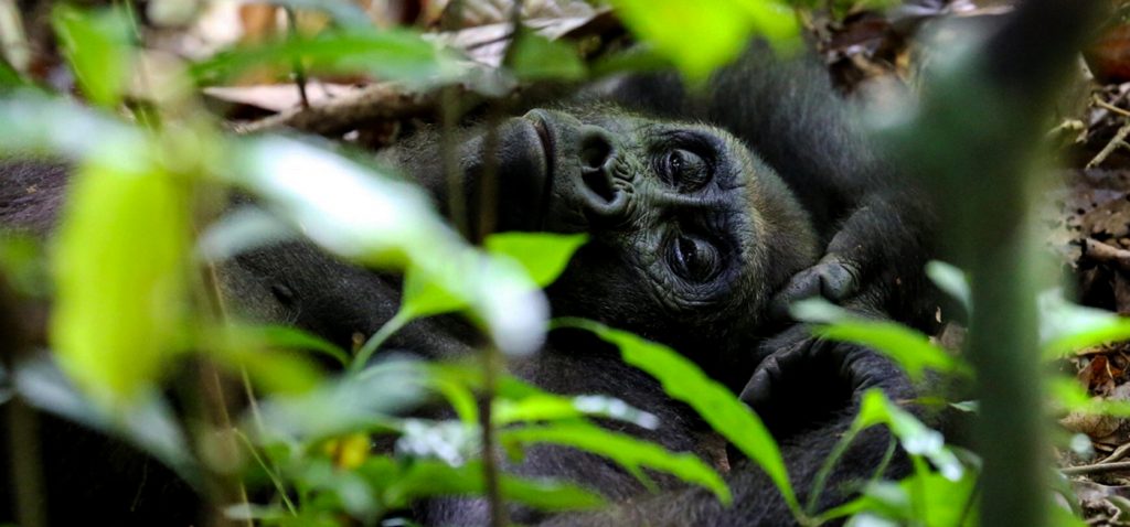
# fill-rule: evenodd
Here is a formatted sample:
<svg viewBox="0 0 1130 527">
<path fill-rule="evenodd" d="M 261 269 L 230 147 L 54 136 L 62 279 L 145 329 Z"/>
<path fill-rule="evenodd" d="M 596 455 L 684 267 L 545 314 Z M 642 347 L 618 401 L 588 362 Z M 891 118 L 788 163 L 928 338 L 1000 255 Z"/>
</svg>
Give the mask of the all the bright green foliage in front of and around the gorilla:
<svg viewBox="0 0 1130 527">
<path fill-rule="evenodd" d="M 333 30 L 237 47 L 198 61 L 198 85 L 218 82 L 263 65 L 290 71 L 365 73 L 416 87 L 466 82 L 476 87 L 452 50 L 408 29 L 357 25 L 350 3 L 280 1 L 331 15 Z M 625 24 L 690 79 L 702 80 L 737 56 L 750 34 L 782 49 L 797 39 L 796 14 L 771 0 L 725 0 L 710 6 L 675 0 L 612 0 Z M 845 10 L 846 2 L 832 2 Z M 583 236 L 498 234 L 483 247 L 460 238 L 418 190 L 379 167 L 288 137 L 234 137 L 189 106 L 158 108 L 159 124 L 121 118 L 130 100 L 138 49 L 127 8 L 59 7 L 52 24 L 82 95 L 99 109 L 21 88 L 0 99 L 0 155 L 28 152 L 69 159 L 78 167 L 69 205 L 53 245 L 54 363 L 27 362 L 3 371 L 16 392 L 41 409 L 124 437 L 194 484 L 217 473 L 240 474 L 251 488 L 273 490 L 263 503 L 228 508 L 232 518 L 261 525 L 366 525 L 395 519 L 412 502 L 440 495 L 486 493 L 485 432 L 495 431 L 511 459 L 525 448 L 553 443 L 603 456 L 654 486 L 645 471 L 673 475 L 732 500 L 723 477 L 698 457 L 597 424 L 626 429 L 660 423 L 600 394 L 563 396 L 481 364 L 420 363 L 382 353 L 389 336 L 412 320 L 459 314 L 510 355 L 536 352 L 545 339 L 550 284 Z M 688 45 L 688 42 L 694 45 Z M 508 71 L 520 80 L 577 80 L 591 72 L 575 49 L 522 34 Z M 0 63 L 0 87 L 25 84 Z M 200 207 L 207 196 L 247 192 L 267 211 L 223 216 Z M 405 273 L 400 310 L 357 350 L 341 350 L 284 327 L 224 319 L 216 304 L 217 261 L 264 239 L 298 236 L 356 263 Z M 18 264 L 31 249 L 3 239 L 3 273 L 21 291 L 36 275 Z M 23 248 L 21 248 L 23 247 Z M 145 254 L 146 257 L 136 257 Z M 26 260 L 26 258 L 25 258 Z M 14 263 L 15 262 L 15 263 Z M 972 311 L 959 271 L 931 264 L 939 287 Z M 31 278 L 29 278 L 31 276 Z M 1048 300 L 1043 339 L 1049 357 L 1130 337 L 1125 319 Z M 930 372 L 970 376 L 972 369 L 913 330 L 853 316 L 827 304 L 797 306 L 818 337 L 871 346 L 915 379 Z M 871 521 L 972 525 L 976 517 L 975 456 L 945 445 L 913 412 L 881 393 L 863 396 L 860 412 L 826 462 L 806 503 L 792 488 L 781 449 L 758 416 L 733 394 L 675 351 L 631 333 L 581 319 L 557 320 L 615 344 L 623 359 L 660 381 L 675 399 L 702 415 L 777 485 L 798 521 L 815 525 L 857 515 Z M 328 372 L 321 357 L 344 371 Z M 183 360 L 216 364 L 255 395 L 234 436 L 237 466 L 216 467 L 207 437 L 175 415 L 163 394 L 166 374 Z M 493 367 L 489 360 L 488 367 Z M 494 366 L 496 367 L 496 366 Z M 492 378 L 496 377 L 496 378 Z M 1130 415 L 1124 405 L 1089 401 L 1077 386 L 1055 384 L 1060 409 Z M 485 399 L 486 405 L 480 405 Z M 6 398 L 0 396 L 0 404 Z M 408 416 L 420 404 L 442 402 L 454 414 L 428 421 Z M 489 422 L 483 422 L 489 409 Z M 484 424 L 487 430 L 484 430 Z M 886 427 L 912 458 L 914 473 L 883 481 L 883 467 L 858 499 L 815 510 L 828 473 L 851 441 Z M 225 436 L 226 437 L 226 436 Z M 371 438 L 391 439 L 392 453 L 374 451 Z M 231 439 L 231 438 L 229 438 Z M 192 445 L 205 445 L 193 449 Z M 895 453 L 894 445 L 890 449 Z M 203 485 L 202 485 L 203 486 Z M 504 500 L 546 511 L 592 509 L 603 498 L 575 484 L 503 474 Z"/>
</svg>

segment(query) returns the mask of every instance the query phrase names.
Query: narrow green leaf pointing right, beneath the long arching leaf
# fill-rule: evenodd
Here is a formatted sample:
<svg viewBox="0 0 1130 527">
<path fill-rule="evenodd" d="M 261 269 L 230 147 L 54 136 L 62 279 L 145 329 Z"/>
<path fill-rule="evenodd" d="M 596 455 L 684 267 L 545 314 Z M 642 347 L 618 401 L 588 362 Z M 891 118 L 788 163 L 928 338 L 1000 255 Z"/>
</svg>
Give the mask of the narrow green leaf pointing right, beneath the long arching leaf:
<svg viewBox="0 0 1130 527">
<path fill-rule="evenodd" d="M 672 453 L 659 445 L 626 433 L 605 430 L 585 422 L 560 422 L 547 425 L 508 428 L 498 431 L 498 440 L 511 445 L 549 442 L 577 448 L 607 457 L 633 474 L 641 468 L 666 472 L 680 480 L 709 489 L 719 501 L 732 501 L 730 489 L 710 465 L 687 453 Z"/>
</svg>

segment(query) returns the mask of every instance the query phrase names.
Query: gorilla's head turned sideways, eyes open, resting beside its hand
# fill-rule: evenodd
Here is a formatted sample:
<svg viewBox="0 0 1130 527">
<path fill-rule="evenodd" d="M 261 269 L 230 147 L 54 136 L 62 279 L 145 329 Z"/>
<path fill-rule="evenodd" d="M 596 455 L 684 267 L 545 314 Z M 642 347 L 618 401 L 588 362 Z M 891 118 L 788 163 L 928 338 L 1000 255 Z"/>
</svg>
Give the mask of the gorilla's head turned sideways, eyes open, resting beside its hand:
<svg viewBox="0 0 1130 527">
<path fill-rule="evenodd" d="M 440 140 L 421 135 L 390 156 L 442 208 Z M 801 207 L 720 129 L 597 106 L 511 118 L 493 156 L 481 128 L 460 141 L 469 225 L 494 214 L 496 230 L 589 235 L 548 291 L 555 316 L 593 318 L 710 362 L 746 342 L 733 328 L 753 333 L 772 291 L 815 261 Z M 497 164 L 496 194 L 485 190 L 487 163 Z"/>
</svg>

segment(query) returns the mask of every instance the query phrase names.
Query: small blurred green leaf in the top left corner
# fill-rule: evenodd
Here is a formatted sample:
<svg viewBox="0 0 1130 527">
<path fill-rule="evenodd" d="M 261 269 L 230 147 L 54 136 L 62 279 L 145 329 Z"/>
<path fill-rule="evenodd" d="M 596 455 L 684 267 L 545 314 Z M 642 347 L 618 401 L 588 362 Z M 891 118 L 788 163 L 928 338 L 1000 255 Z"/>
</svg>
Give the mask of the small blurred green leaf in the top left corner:
<svg viewBox="0 0 1130 527">
<path fill-rule="evenodd" d="M 124 9 L 84 11 L 59 5 L 51 23 L 86 97 L 102 106 L 120 103 L 133 67 L 132 29 Z"/>
</svg>

